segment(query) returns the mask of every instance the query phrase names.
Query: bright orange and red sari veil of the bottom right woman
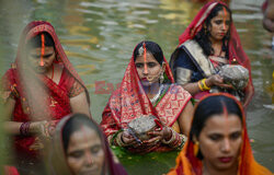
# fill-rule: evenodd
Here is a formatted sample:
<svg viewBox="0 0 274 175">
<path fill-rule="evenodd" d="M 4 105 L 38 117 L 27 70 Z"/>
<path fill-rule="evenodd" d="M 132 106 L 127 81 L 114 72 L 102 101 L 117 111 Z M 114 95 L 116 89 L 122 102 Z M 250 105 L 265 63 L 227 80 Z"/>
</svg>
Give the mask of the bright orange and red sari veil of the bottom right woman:
<svg viewBox="0 0 274 175">
<path fill-rule="evenodd" d="M 212 95 L 220 95 L 220 93 L 212 94 Z M 248 131 L 247 131 L 247 124 L 244 112 L 241 107 L 239 101 L 237 101 L 233 96 L 229 94 L 221 94 L 226 95 L 233 101 L 241 108 L 241 113 L 243 116 L 242 125 L 243 125 L 243 132 L 242 132 L 242 144 L 241 151 L 239 155 L 239 165 L 238 165 L 238 175 L 272 175 L 272 173 L 265 168 L 264 166 L 260 165 L 253 156 L 252 149 L 249 142 Z M 208 95 L 210 96 L 210 95 Z M 206 96 L 204 97 L 206 98 Z M 202 98 L 203 101 L 203 98 Z M 176 158 L 176 166 L 172 168 L 168 175 L 202 175 L 203 174 L 203 163 L 199 159 L 194 155 L 194 142 L 187 140 L 184 145 L 184 149 L 180 152 Z"/>
</svg>

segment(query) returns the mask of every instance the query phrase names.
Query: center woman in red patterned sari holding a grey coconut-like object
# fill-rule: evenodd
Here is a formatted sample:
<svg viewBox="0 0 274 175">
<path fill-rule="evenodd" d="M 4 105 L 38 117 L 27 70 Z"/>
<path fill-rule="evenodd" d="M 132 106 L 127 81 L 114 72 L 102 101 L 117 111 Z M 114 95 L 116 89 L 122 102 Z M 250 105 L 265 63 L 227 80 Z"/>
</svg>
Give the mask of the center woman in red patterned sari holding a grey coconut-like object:
<svg viewBox="0 0 274 175">
<path fill-rule="evenodd" d="M 101 127 L 110 143 L 139 153 L 181 148 L 193 106 L 190 93 L 173 82 L 160 46 L 153 42 L 139 43 L 119 89 L 103 112 Z M 127 124 L 142 115 L 156 116 L 162 129 L 151 131 L 152 138 L 140 143 L 129 135 Z"/>
</svg>

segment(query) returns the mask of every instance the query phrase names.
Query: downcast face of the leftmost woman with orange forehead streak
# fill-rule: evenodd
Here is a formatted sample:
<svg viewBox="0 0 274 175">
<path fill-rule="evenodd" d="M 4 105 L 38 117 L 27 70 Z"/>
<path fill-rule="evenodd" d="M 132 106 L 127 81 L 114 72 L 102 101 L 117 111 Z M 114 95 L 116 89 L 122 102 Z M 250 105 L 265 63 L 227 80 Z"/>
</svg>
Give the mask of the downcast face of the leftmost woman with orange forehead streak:
<svg viewBox="0 0 274 175">
<path fill-rule="evenodd" d="M 45 46 L 45 52 L 43 55 L 43 63 L 41 59 L 42 55 L 42 48 L 31 48 L 28 54 L 28 61 L 31 63 L 31 67 L 37 72 L 37 73 L 46 73 L 48 70 L 50 70 L 53 62 L 55 60 L 55 49 L 53 46 L 47 47 Z"/>
</svg>

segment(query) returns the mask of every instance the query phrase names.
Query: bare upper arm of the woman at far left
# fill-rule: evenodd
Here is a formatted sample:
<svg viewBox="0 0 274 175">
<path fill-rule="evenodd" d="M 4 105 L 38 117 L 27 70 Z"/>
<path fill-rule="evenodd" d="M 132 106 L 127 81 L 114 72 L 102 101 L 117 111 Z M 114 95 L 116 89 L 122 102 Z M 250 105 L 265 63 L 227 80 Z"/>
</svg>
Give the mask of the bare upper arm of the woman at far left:
<svg viewBox="0 0 274 175">
<path fill-rule="evenodd" d="M 70 97 L 70 107 L 72 113 L 81 113 L 91 117 L 90 107 L 84 91 L 77 96 Z"/>
</svg>

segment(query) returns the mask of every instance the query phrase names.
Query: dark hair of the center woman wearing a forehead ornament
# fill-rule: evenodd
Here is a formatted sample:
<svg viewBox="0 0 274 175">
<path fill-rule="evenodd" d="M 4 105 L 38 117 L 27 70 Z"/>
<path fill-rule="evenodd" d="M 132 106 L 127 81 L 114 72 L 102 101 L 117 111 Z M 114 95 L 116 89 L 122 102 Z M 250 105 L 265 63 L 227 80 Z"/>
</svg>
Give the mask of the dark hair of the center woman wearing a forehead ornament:
<svg viewBox="0 0 274 175">
<path fill-rule="evenodd" d="M 157 44 L 157 43 L 153 43 L 153 42 L 149 42 L 149 40 L 144 40 L 145 44 L 146 44 L 146 49 L 148 52 L 152 54 L 152 56 L 155 57 L 155 59 L 160 63 L 162 65 L 162 61 L 163 61 L 163 52 L 162 52 L 162 49 L 161 47 Z M 140 42 L 135 50 L 134 50 L 134 61 L 136 61 L 136 58 L 139 55 L 139 48 L 142 47 L 142 44 L 144 42 Z"/>
</svg>

